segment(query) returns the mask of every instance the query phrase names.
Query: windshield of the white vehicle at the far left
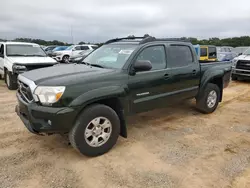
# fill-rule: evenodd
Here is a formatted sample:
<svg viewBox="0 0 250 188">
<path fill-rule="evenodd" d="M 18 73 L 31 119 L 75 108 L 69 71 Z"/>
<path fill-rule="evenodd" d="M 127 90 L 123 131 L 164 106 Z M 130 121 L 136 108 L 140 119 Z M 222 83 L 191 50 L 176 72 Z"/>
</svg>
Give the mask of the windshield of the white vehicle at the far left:
<svg viewBox="0 0 250 188">
<path fill-rule="evenodd" d="M 7 56 L 41 56 L 47 55 L 39 45 L 27 45 L 27 44 L 7 44 L 6 45 Z"/>
</svg>

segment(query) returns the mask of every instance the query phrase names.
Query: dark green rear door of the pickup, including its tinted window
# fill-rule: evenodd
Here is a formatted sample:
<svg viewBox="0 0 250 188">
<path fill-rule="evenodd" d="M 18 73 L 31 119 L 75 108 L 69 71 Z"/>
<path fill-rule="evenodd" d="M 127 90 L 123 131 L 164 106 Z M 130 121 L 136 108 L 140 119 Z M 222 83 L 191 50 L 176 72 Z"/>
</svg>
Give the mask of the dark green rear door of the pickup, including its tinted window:
<svg viewBox="0 0 250 188">
<path fill-rule="evenodd" d="M 171 88 L 168 101 L 176 102 L 196 96 L 200 83 L 200 64 L 189 45 L 172 44 L 167 48 L 167 72 Z"/>
</svg>

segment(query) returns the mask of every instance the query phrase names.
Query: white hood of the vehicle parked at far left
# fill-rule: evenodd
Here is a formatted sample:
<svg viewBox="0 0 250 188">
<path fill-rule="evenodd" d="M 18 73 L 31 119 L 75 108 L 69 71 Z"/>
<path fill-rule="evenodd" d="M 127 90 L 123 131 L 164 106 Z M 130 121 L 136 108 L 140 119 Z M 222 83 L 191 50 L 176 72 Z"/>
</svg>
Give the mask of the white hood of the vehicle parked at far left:
<svg viewBox="0 0 250 188">
<path fill-rule="evenodd" d="M 18 64 L 57 63 L 54 59 L 50 57 L 8 57 L 8 59 L 13 63 Z"/>
</svg>

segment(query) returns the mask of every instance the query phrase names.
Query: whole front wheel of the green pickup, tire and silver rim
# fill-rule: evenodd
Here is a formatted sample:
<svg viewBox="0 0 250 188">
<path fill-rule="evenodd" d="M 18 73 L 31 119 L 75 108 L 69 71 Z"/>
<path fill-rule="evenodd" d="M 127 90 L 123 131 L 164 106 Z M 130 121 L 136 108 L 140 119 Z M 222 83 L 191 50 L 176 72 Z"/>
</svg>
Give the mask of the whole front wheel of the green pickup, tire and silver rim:
<svg viewBox="0 0 250 188">
<path fill-rule="evenodd" d="M 86 156 L 108 152 L 117 142 L 120 120 L 116 112 L 105 105 L 87 107 L 69 133 L 71 145 Z"/>
</svg>

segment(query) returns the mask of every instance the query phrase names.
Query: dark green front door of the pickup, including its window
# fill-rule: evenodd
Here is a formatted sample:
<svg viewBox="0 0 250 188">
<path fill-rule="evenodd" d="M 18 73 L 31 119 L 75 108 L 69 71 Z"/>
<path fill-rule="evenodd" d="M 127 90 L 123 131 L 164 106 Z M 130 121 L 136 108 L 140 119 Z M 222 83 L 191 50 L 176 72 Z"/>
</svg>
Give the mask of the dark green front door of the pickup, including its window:
<svg viewBox="0 0 250 188">
<path fill-rule="evenodd" d="M 168 80 L 166 74 L 165 46 L 147 46 L 139 52 L 136 60 L 148 60 L 152 69 L 129 76 L 130 111 L 132 113 L 152 110 L 164 102 L 164 92 Z"/>
</svg>

